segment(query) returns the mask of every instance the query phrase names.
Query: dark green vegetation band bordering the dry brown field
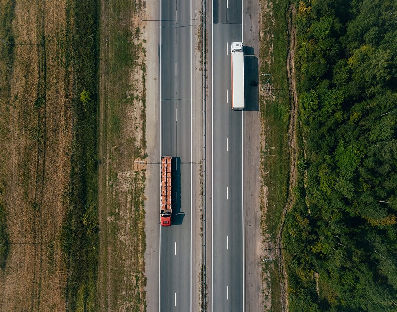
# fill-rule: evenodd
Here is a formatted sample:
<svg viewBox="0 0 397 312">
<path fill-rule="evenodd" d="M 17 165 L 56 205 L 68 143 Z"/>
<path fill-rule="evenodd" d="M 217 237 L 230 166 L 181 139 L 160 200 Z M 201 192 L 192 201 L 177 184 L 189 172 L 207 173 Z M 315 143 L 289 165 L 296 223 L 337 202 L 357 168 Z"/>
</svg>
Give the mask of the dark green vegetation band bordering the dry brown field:
<svg viewBox="0 0 397 312">
<path fill-rule="evenodd" d="M 92 311 L 98 269 L 97 1 L 68 1 L 66 62 L 73 75 L 74 111 L 69 209 L 61 244 L 68 280 L 66 307 Z"/>
</svg>

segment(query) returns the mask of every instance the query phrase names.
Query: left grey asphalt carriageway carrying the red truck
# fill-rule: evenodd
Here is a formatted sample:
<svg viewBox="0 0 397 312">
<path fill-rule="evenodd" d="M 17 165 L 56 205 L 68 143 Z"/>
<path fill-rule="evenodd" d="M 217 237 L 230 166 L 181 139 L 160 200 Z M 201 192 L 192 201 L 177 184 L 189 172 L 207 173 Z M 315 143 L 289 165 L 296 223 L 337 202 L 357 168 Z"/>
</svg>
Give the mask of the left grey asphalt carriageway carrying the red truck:
<svg viewBox="0 0 397 312">
<path fill-rule="evenodd" d="M 194 7 L 188 1 L 160 3 L 160 154 L 173 156 L 175 196 L 172 226 L 159 225 L 159 312 L 187 312 L 192 311 Z"/>
</svg>

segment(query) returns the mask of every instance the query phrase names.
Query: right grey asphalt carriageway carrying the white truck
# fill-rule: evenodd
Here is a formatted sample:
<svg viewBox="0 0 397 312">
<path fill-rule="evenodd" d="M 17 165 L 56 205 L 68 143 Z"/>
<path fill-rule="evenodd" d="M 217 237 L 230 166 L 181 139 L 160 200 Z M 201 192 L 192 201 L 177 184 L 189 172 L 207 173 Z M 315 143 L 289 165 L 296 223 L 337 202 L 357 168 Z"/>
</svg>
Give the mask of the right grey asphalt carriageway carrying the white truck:
<svg viewBox="0 0 397 312">
<path fill-rule="evenodd" d="M 213 0 L 210 311 L 244 311 L 244 112 L 231 110 L 231 42 L 242 42 L 242 1 Z"/>
</svg>

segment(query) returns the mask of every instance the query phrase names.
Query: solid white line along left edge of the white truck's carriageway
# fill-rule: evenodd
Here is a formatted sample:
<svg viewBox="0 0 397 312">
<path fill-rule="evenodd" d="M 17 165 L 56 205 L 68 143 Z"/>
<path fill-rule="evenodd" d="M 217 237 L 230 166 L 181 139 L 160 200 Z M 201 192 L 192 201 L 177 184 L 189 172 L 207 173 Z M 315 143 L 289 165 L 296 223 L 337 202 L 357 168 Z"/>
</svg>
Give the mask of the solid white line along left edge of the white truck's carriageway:
<svg viewBox="0 0 397 312">
<path fill-rule="evenodd" d="M 211 4 L 212 9 L 212 20 L 211 20 L 211 49 L 214 47 L 214 1 L 212 0 Z M 214 311 L 213 298 L 214 298 L 214 223 L 213 223 L 213 215 L 214 215 L 214 54 L 211 51 L 211 311 Z"/>
</svg>

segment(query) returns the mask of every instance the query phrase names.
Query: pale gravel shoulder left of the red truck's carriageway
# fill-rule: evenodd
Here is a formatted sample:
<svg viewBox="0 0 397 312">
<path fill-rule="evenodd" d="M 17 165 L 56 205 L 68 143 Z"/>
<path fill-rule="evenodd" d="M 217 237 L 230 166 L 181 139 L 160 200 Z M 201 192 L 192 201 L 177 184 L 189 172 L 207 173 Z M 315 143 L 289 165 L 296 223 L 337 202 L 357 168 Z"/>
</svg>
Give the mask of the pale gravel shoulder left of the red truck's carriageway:
<svg viewBox="0 0 397 312">
<path fill-rule="evenodd" d="M 159 185 L 160 167 L 160 112 L 159 112 L 159 2 L 154 0 L 146 1 L 146 141 L 147 141 L 147 183 L 145 189 L 145 232 L 146 232 L 146 292 L 147 311 L 158 311 L 159 300 Z"/>
</svg>

